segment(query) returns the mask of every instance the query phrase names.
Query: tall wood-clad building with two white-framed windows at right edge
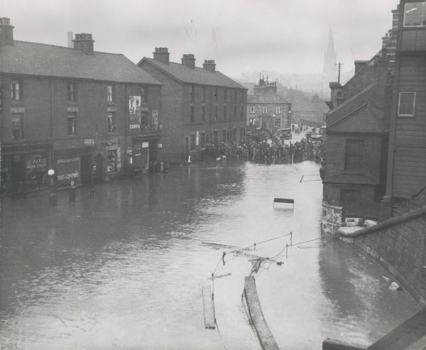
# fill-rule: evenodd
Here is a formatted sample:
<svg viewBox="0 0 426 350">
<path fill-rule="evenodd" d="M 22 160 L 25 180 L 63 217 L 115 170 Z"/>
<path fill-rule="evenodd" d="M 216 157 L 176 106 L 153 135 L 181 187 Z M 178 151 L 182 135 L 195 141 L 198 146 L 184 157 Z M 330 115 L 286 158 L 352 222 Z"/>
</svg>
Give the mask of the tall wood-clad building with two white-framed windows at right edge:
<svg viewBox="0 0 426 350">
<path fill-rule="evenodd" d="M 426 1 L 401 0 L 383 207 L 426 187 Z"/>
</svg>

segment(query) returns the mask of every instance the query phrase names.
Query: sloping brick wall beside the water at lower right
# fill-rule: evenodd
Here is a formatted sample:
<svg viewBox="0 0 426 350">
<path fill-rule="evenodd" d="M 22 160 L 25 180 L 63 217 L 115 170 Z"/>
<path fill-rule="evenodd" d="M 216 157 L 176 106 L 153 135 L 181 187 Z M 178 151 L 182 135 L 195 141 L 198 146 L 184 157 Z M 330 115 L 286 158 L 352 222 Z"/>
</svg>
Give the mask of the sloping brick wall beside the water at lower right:
<svg viewBox="0 0 426 350">
<path fill-rule="evenodd" d="M 341 237 L 386 268 L 415 301 L 426 305 L 426 207 Z"/>
</svg>

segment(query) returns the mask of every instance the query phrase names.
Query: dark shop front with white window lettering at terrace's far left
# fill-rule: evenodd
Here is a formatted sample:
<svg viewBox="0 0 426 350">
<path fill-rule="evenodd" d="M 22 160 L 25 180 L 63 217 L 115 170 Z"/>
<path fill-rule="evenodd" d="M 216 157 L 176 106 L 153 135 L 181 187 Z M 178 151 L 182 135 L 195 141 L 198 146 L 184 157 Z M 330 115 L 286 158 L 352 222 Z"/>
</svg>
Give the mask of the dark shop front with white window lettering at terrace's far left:
<svg viewBox="0 0 426 350">
<path fill-rule="evenodd" d="M 5 147 L 1 152 L 0 195 L 25 197 L 49 186 L 48 170 L 52 147 Z"/>
</svg>

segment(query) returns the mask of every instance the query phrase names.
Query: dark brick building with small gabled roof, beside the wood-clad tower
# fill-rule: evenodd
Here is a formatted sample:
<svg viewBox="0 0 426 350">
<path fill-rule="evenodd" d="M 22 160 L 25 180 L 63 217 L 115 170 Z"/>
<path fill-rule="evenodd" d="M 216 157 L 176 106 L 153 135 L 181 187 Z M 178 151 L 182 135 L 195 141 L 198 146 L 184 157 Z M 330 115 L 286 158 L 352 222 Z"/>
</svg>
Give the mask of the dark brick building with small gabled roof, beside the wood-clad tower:
<svg viewBox="0 0 426 350">
<path fill-rule="evenodd" d="M 390 33 L 371 60 L 355 61 L 354 77 L 346 84 L 329 84 L 323 201 L 343 207 L 346 216 L 378 218 L 385 194 L 395 28 Z"/>
</svg>

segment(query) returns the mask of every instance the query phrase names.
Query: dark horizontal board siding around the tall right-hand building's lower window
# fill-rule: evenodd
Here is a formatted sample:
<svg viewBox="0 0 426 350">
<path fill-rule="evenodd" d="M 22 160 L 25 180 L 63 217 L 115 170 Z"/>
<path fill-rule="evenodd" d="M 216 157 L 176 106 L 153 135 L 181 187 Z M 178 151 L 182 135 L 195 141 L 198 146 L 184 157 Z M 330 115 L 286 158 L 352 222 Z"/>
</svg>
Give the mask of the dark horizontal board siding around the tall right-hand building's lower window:
<svg viewBox="0 0 426 350">
<path fill-rule="evenodd" d="M 414 117 L 396 117 L 393 196 L 411 198 L 426 185 L 426 55 L 400 57 L 398 92 L 415 92 Z"/>
</svg>

